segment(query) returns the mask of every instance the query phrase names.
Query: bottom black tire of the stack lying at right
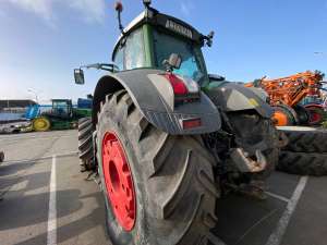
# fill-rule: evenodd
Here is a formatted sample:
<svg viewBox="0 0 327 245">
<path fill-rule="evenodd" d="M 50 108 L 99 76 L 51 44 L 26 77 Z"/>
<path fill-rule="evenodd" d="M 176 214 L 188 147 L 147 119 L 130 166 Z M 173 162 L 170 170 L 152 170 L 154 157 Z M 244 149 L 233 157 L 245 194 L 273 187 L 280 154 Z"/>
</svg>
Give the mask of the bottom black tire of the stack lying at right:
<svg viewBox="0 0 327 245">
<path fill-rule="evenodd" d="M 277 169 L 300 175 L 327 175 L 327 154 L 281 151 Z"/>
</svg>

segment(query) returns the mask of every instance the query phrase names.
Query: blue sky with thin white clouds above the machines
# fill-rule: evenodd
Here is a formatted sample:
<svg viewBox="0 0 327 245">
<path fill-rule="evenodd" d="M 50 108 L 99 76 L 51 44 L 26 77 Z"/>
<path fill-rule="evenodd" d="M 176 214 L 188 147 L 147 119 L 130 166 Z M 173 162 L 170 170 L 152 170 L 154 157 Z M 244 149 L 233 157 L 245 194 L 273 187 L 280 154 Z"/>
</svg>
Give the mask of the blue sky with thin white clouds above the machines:
<svg viewBox="0 0 327 245">
<path fill-rule="evenodd" d="M 80 64 L 108 62 L 119 30 L 113 0 L 0 0 L 0 98 L 84 97 L 73 83 Z M 142 1 L 123 0 L 123 23 Z M 210 73 L 230 81 L 278 77 L 306 70 L 327 73 L 327 0 L 154 0 L 202 33 L 215 30 L 204 53 Z M 314 54 L 315 51 L 324 52 Z"/>
</svg>

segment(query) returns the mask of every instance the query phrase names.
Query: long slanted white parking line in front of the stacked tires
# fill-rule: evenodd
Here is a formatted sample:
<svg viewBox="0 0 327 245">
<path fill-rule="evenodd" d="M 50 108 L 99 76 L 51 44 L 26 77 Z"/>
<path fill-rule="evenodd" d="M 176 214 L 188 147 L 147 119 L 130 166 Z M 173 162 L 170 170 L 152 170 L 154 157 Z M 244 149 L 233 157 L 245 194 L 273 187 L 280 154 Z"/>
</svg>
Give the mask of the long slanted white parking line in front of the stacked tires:
<svg viewBox="0 0 327 245">
<path fill-rule="evenodd" d="M 279 245 L 281 243 L 281 238 L 288 228 L 288 224 L 290 222 L 290 219 L 296 208 L 298 201 L 300 200 L 300 197 L 303 193 L 303 189 L 306 185 L 307 176 L 302 176 L 299 181 L 299 184 L 291 197 L 291 199 L 288 203 L 288 206 L 286 210 L 283 211 L 276 230 L 271 233 L 269 236 L 266 245 Z"/>
</svg>

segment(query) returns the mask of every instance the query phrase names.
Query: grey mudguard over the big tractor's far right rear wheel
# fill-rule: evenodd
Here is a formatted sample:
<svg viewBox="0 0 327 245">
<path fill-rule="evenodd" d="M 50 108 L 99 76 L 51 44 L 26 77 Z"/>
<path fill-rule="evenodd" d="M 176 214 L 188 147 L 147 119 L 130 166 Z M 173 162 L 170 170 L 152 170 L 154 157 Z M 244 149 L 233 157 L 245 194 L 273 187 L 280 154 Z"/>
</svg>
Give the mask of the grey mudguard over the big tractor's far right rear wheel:
<svg viewBox="0 0 327 245">
<path fill-rule="evenodd" d="M 271 118 L 274 113 L 265 93 L 257 88 L 223 81 L 209 84 L 206 90 L 213 102 L 225 111 L 256 110 L 264 118 Z"/>
</svg>

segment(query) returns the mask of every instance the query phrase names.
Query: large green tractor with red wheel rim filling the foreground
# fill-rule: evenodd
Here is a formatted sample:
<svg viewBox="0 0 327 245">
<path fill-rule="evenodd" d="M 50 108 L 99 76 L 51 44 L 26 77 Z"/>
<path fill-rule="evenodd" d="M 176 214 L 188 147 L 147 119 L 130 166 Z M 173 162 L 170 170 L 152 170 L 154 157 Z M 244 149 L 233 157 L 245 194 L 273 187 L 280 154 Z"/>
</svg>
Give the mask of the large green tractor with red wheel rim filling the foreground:
<svg viewBox="0 0 327 245">
<path fill-rule="evenodd" d="M 82 166 L 98 171 L 112 244 L 218 244 L 210 230 L 220 194 L 264 194 L 275 168 L 272 110 L 256 90 L 208 74 L 202 48 L 213 33 L 143 2 L 126 28 L 116 5 L 113 63 L 74 70 L 76 84 L 83 68 L 108 71 L 81 121 Z"/>
</svg>

